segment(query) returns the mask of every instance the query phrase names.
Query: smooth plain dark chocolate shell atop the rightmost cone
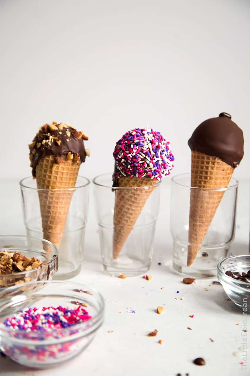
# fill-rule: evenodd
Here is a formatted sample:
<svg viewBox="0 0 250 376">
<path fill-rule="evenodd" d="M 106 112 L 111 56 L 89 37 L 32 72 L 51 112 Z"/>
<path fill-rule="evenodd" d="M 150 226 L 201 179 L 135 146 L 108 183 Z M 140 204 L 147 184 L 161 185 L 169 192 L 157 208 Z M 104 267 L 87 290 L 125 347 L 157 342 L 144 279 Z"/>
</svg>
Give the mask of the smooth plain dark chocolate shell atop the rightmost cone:
<svg viewBox="0 0 250 376">
<path fill-rule="evenodd" d="M 244 155 L 243 131 L 227 112 L 203 121 L 188 141 L 191 150 L 216 156 L 237 167 Z"/>
</svg>

